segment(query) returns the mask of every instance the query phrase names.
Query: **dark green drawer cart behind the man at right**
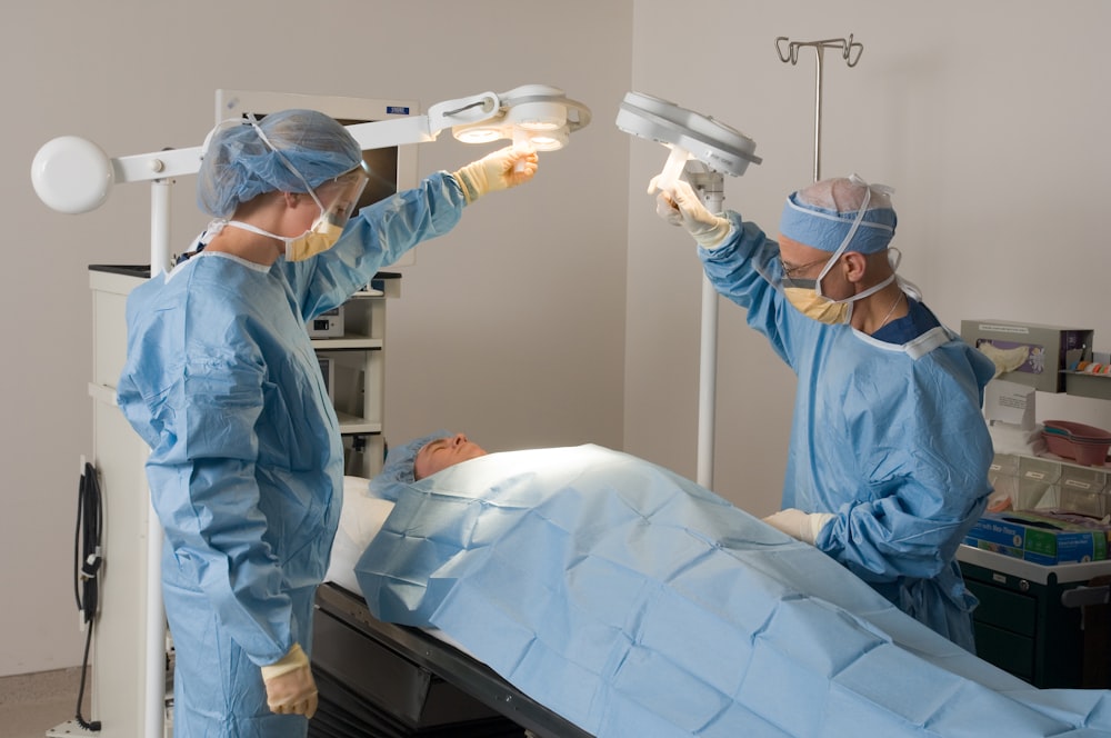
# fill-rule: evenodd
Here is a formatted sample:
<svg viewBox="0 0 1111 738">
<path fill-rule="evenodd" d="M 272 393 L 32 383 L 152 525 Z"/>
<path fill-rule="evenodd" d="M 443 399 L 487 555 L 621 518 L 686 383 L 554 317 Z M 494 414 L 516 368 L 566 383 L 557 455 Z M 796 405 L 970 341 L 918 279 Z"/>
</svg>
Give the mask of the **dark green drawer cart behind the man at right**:
<svg viewBox="0 0 1111 738">
<path fill-rule="evenodd" d="M 973 611 L 977 654 L 1039 688 L 1082 688 L 1084 631 L 1080 608 L 1061 595 L 1111 574 L 1111 561 L 1041 566 L 961 546 L 964 581 L 980 606 Z"/>
</svg>

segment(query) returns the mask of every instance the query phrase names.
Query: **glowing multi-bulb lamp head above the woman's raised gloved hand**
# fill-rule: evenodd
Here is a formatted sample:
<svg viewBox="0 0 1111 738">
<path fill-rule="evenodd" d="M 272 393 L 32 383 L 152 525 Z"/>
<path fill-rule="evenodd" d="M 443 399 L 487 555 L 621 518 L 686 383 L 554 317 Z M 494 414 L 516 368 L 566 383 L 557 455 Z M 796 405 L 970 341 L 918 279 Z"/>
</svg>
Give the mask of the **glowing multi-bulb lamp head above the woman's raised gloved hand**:
<svg viewBox="0 0 1111 738">
<path fill-rule="evenodd" d="M 590 122 L 590 108 L 556 87 L 524 84 L 498 97 L 500 107 L 489 118 L 454 126 L 451 134 L 466 143 L 509 139 L 537 151 L 554 151 L 567 146 L 572 131 Z"/>
</svg>

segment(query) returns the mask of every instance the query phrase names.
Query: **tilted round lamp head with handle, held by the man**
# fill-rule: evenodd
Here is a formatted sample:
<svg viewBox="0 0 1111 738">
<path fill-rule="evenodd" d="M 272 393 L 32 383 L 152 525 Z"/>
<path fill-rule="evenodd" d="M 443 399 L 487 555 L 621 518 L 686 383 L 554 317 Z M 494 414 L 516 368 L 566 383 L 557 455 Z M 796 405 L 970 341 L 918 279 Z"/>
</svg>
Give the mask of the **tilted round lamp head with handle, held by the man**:
<svg viewBox="0 0 1111 738">
<path fill-rule="evenodd" d="M 671 149 L 657 180 L 659 189 L 669 189 L 682 174 L 689 160 L 700 161 L 710 170 L 739 177 L 749 163 L 760 163 L 755 142 L 724 123 L 680 108 L 673 102 L 628 92 L 618 110 L 617 127 L 625 133 L 650 139 Z M 720 179 L 720 176 L 715 177 Z"/>
</svg>

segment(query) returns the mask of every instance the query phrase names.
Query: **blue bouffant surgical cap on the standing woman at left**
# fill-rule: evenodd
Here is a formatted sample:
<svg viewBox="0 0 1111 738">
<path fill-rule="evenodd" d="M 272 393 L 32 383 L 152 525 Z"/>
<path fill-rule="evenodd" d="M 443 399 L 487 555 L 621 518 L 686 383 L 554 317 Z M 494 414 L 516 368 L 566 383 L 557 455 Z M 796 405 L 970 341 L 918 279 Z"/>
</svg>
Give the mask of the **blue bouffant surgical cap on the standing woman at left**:
<svg viewBox="0 0 1111 738">
<path fill-rule="evenodd" d="M 226 121 L 209 134 L 197 205 L 210 216 L 229 218 L 241 202 L 263 192 L 304 192 L 306 181 L 316 189 L 362 161 L 348 130 L 316 110 L 274 112 L 258 127 L 273 148 L 247 119 Z"/>
</svg>

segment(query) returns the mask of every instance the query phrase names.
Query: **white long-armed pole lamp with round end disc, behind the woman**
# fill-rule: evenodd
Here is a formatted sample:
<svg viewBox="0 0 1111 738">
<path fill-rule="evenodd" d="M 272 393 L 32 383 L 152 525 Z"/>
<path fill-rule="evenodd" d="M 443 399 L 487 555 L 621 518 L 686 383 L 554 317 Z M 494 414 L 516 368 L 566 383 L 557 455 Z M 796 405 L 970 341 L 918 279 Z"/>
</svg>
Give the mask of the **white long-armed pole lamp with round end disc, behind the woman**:
<svg viewBox="0 0 1111 738">
<path fill-rule="evenodd" d="M 559 88 L 527 84 L 509 92 L 482 92 L 447 100 L 423 116 L 353 123 L 348 130 L 363 150 L 434 141 L 444 128 L 461 141 L 487 142 L 509 138 L 540 151 L 562 148 L 571 131 L 590 122 L 590 109 L 569 100 Z M 99 208 L 122 182 L 151 182 L 150 276 L 170 269 L 170 186 L 174 177 L 196 174 L 203 147 L 167 149 L 109 158 L 96 143 L 76 136 L 48 141 L 31 162 L 31 183 L 47 207 L 64 213 Z M 146 729 L 162 735 L 161 677 L 166 627 L 159 581 L 162 529 L 153 513 L 147 526 L 147 675 Z"/>
</svg>

